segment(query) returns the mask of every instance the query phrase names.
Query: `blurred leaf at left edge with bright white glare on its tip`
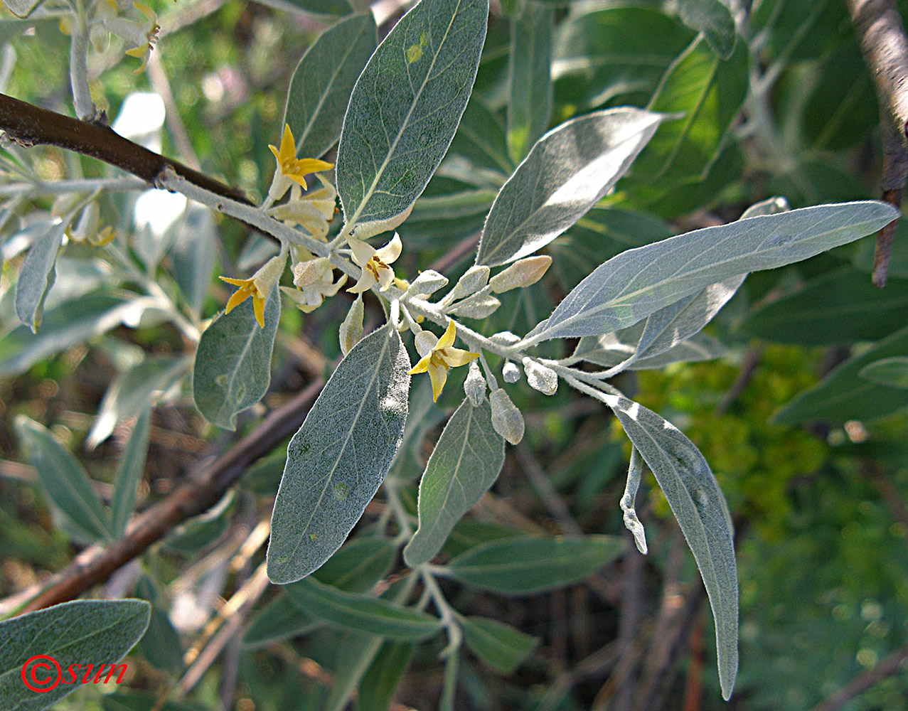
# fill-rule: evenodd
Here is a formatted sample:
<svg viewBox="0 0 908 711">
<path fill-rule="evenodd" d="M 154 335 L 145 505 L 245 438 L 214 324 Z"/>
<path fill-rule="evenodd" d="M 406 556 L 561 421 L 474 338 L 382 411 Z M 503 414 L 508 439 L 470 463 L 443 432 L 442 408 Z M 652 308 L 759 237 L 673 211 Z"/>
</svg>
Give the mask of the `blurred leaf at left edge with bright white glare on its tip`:
<svg viewBox="0 0 908 711">
<path fill-rule="evenodd" d="M 104 331 L 132 322 L 150 301 L 134 293 L 97 292 L 61 304 L 44 314 L 43 327 L 36 335 L 28 326 L 19 326 L 0 338 L 0 375 L 15 375 L 35 362 L 88 341 Z"/>
</svg>

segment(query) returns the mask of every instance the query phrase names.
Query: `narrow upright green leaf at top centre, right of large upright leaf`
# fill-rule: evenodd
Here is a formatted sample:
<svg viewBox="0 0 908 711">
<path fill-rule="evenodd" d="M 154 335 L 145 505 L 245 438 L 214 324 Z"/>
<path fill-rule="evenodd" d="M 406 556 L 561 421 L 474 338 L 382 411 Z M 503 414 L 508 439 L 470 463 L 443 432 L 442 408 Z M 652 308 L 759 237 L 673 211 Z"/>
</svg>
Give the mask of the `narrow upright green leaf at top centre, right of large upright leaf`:
<svg viewBox="0 0 908 711">
<path fill-rule="evenodd" d="M 519 163 L 548 128 L 552 114 L 551 7 L 527 3 L 511 21 L 508 64 L 508 153 Z"/>
</svg>

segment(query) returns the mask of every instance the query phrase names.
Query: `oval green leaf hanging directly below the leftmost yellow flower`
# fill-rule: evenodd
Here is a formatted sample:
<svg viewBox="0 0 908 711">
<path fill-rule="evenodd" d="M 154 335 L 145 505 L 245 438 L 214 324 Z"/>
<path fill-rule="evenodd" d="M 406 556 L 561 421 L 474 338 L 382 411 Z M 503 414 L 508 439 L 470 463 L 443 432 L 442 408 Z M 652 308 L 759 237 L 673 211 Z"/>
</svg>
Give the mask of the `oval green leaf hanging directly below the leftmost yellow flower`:
<svg viewBox="0 0 908 711">
<path fill-rule="evenodd" d="M 252 299 L 218 314 L 202 331 L 192 370 L 192 397 L 205 420 L 225 430 L 256 402 L 271 382 L 271 351 L 281 317 L 278 285 L 265 300 L 265 327 L 252 313 Z"/>
</svg>

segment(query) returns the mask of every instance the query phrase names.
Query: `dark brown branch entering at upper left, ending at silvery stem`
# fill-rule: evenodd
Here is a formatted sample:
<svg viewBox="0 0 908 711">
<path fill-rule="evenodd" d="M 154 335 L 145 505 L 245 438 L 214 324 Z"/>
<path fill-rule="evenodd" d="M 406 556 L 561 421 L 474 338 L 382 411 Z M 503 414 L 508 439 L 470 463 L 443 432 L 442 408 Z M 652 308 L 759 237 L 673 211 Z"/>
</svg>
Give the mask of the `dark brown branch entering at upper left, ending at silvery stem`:
<svg viewBox="0 0 908 711">
<path fill-rule="evenodd" d="M 6 94 L 0 94 L 0 131 L 26 148 L 39 144 L 54 145 L 89 155 L 126 173 L 133 173 L 151 185 L 163 169 L 170 166 L 177 175 L 211 193 L 252 204 L 235 188 L 194 171 L 183 163 L 153 153 L 123 138 L 103 123 L 78 121 Z"/>
</svg>

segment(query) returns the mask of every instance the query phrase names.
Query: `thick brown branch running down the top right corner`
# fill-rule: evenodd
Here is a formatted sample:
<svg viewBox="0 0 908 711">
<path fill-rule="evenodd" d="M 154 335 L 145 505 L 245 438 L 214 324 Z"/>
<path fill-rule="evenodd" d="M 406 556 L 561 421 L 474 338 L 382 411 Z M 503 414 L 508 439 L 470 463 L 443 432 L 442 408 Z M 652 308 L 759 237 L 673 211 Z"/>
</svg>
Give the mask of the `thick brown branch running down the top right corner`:
<svg viewBox="0 0 908 711">
<path fill-rule="evenodd" d="M 845 0 L 880 104 L 883 201 L 896 209 L 908 176 L 908 38 L 895 0 Z M 883 288 L 896 222 L 876 235 L 873 285 Z"/>
</svg>

